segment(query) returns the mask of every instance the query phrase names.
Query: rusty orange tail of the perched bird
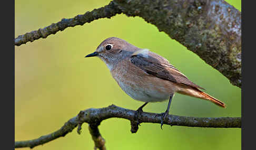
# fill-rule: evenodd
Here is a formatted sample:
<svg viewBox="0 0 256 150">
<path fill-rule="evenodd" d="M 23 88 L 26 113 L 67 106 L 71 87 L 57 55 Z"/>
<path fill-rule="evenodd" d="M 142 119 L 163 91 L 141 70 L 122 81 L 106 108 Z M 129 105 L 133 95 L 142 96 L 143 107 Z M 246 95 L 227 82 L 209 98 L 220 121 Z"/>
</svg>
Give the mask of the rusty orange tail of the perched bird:
<svg viewBox="0 0 256 150">
<path fill-rule="evenodd" d="M 204 100 L 209 100 L 209 101 L 213 102 L 214 104 L 221 106 L 222 108 L 226 108 L 225 103 L 223 103 L 222 101 L 220 101 L 216 98 L 213 98 L 211 95 L 199 90 L 198 88 L 188 88 L 188 89 L 184 88 L 181 91 L 179 91 L 178 93 L 189 95 L 191 97 L 204 99 Z"/>
</svg>

